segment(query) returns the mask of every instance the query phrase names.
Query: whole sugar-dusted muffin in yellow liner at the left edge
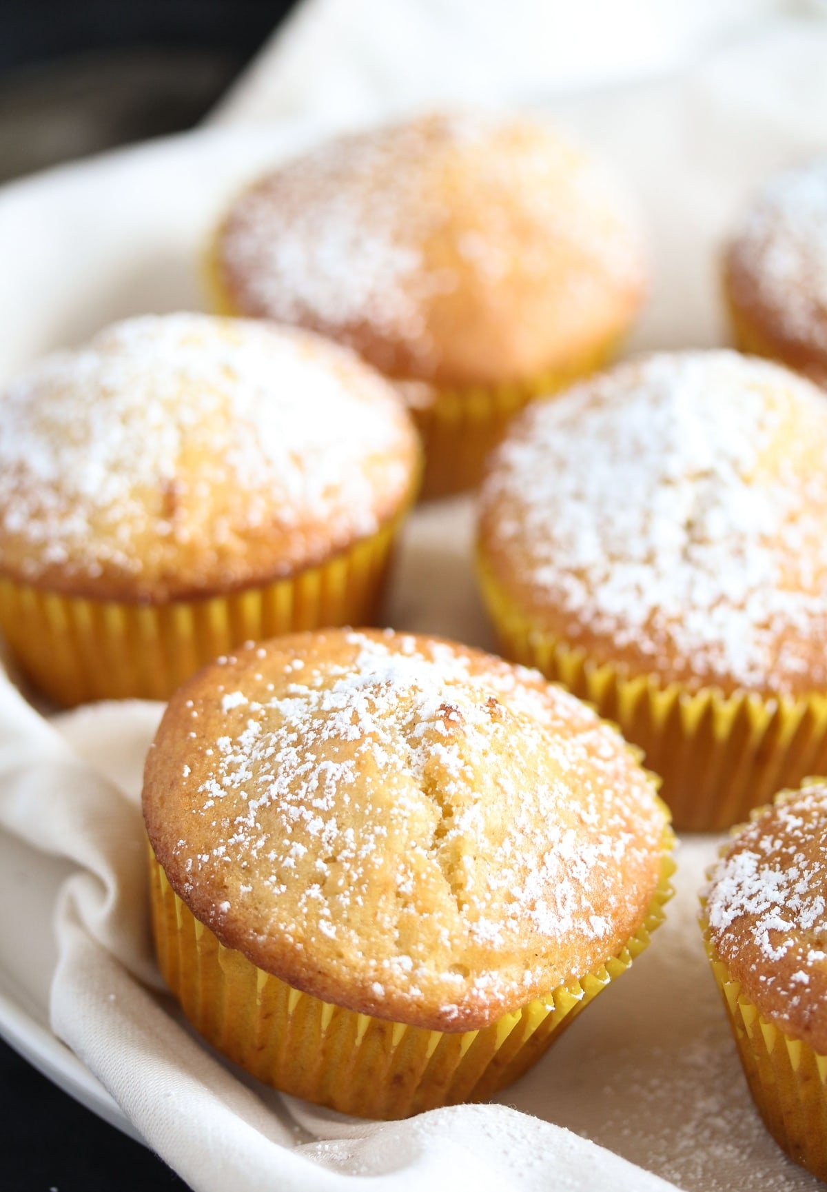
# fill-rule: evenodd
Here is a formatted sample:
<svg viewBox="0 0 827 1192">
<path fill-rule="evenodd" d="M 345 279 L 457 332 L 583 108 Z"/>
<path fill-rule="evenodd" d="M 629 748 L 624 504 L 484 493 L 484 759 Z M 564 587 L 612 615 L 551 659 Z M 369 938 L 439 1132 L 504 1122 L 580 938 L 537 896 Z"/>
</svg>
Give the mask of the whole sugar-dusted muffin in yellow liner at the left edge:
<svg viewBox="0 0 827 1192">
<path fill-rule="evenodd" d="M 166 699 L 238 642 L 369 620 L 418 471 L 343 348 L 119 323 L 0 395 L 0 628 L 61 703 Z"/>
</svg>

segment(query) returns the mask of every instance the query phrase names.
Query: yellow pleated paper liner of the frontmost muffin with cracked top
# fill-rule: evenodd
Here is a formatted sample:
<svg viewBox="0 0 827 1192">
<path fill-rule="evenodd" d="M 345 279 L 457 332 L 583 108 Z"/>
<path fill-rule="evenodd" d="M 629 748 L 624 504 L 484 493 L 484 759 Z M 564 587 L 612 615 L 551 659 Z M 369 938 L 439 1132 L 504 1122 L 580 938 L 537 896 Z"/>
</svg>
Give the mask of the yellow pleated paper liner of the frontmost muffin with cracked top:
<svg viewBox="0 0 827 1192">
<path fill-rule="evenodd" d="M 674 870 L 664 830 L 658 888 L 627 944 L 595 971 L 477 1031 L 444 1033 L 321 1001 L 225 948 L 194 918 L 150 856 L 153 932 L 161 973 L 195 1029 L 247 1072 L 343 1113 L 403 1118 L 479 1101 L 521 1076 L 613 980 L 665 918 Z"/>
</svg>

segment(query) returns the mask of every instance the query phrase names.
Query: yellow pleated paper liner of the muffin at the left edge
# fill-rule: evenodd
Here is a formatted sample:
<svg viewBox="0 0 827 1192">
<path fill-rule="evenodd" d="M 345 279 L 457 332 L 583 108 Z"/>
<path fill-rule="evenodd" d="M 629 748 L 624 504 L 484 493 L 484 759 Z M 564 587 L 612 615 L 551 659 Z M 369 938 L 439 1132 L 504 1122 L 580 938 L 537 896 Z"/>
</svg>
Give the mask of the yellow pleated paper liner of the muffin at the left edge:
<svg viewBox="0 0 827 1192">
<path fill-rule="evenodd" d="M 167 604 L 63 596 L 0 577 L 0 629 L 21 670 L 58 703 L 166 700 L 244 641 L 369 623 L 400 522 L 294 576 Z"/>
</svg>

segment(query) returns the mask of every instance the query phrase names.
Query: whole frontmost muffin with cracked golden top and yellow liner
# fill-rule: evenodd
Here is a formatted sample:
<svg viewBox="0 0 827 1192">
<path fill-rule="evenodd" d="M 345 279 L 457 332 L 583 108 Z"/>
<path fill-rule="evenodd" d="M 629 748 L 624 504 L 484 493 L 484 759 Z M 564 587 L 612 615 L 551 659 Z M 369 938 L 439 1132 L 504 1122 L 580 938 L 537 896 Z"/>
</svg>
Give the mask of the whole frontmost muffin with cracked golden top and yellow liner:
<svg viewBox="0 0 827 1192">
<path fill-rule="evenodd" d="M 161 971 L 214 1047 L 365 1117 L 518 1076 L 647 944 L 671 833 L 540 675 L 391 631 L 205 668 L 147 759 Z"/>
</svg>

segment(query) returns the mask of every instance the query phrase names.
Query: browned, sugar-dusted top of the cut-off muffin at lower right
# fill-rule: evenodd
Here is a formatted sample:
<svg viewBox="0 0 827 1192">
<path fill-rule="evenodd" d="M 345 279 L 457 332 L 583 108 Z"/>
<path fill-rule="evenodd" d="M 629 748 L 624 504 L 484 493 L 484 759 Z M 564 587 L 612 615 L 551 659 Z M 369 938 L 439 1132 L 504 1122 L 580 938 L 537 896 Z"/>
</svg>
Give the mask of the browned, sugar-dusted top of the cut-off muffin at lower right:
<svg viewBox="0 0 827 1192">
<path fill-rule="evenodd" d="M 741 828 L 710 875 L 704 919 L 742 994 L 827 1055 L 827 782 Z"/>
</svg>

